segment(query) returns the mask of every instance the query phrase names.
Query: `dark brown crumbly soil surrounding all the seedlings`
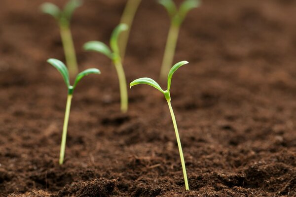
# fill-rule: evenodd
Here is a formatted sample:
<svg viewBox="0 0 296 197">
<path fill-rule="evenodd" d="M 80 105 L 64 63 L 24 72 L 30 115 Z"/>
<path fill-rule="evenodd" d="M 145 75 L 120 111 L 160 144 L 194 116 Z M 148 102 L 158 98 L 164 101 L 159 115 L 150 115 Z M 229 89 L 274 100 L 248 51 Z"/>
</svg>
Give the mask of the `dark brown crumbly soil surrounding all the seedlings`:
<svg viewBox="0 0 296 197">
<path fill-rule="evenodd" d="M 81 49 L 108 43 L 123 0 L 85 0 L 74 13 L 79 69 L 102 74 L 74 92 L 58 164 L 67 90 L 46 60 L 64 55 L 41 2 L 1 0 L 0 196 L 296 196 L 296 1 L 204 0 L 188 14 L 174 62 L 190 63 L 175 73 L 171 96 L 189 192 L 163 95 L 129 89 L 129 111 L 120 113 L 111 61 Z M 164 8 L 143 0 L 124 62 L 128 82 L 158 79 L 168 28 Z"/>
</svg>

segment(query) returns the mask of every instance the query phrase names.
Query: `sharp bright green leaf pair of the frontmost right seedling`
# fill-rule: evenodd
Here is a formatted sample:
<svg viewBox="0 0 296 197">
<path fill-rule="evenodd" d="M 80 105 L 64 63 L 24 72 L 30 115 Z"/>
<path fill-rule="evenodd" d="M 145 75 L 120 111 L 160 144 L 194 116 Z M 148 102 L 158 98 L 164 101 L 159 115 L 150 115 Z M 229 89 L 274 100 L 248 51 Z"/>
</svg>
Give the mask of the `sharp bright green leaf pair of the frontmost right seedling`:
<svg viewBox="0 0 296 197">
<path fill-rule="evenodd" d="M 179 62 L 179 63 L 175 64 L 171 68 L 171 70 L 169 71 L 169 74 L 168 74 L 168 88 L 167 88 L 166 91 L 164 91 L 156 81 L 154 81 L 153 79 L 150 79 L 148 77 L 143 77 L 143 78 L 139 78 L 139 79 L 134 80 L 133 82 L 130 83 L 130 88 L 132 86 L 135 86 L 135 85 L 138 85 L 138 84 L 147 84 L 149 86 L 152 86 L 152 87 L 156 88 L 157 90 L 159 90 L 163 94 L 166 94 L 167 92 L 169 93 L 170 88 L 171 88 L 171 81 L 172 81 L 172 77 L 173 77 L 174 72 L 179 67 L 181 67 L 181 66 L 183 66 L 185 64 L 188 64 L 188 62 L 187 61 L 182 61 L 182 62 Z"/>
</svg>

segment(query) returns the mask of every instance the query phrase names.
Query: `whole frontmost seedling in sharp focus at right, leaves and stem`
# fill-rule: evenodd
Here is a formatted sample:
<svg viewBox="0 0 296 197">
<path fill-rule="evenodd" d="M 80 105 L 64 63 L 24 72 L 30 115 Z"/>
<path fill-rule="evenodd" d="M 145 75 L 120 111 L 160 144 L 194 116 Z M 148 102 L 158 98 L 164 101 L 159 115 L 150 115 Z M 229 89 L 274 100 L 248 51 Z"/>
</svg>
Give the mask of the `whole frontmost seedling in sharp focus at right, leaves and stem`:
<svg viewBox="0 0 296 197">
<path fill-rule="evenodd" d="M 175 118 L 174 111 L 173 111 L 173 108 L 172 108 L 172 105 L 171 105 L 171 96 L 170 96 L 170 88 L 171 88 L 172 76 L 173 76 L 174 72 L 179 67 L 181 67 L 181 66 L 183 66 L 185 64 L 188 64 L 188 62 L 187 61 L 182 61 L 182 62 L 179 62 L 179 63 L 175 64 L 171 68 L 171 70 L 169 71 L 169 74 L 168 74 L 168 88 L 167 88 L 167 90 L 162 90 L 161 87 L 158 85 L 158 83 L 156 83 L 156 81 L 154 81 L 153 79 L 147 78 L 147 77 L 139 78 L 139 79 L 134 80 L 133 82 L 130 83 L 130 88 L 132 86 L 135 86 L 135 85 L 138 85 L 138 84 L 147 84 L 147 85 L 150 85 L 150 86 L 156 88 L 157 90 L 159 90 L 161 93 L 164 94 L 164 97 L 167 100 L 168 105 L 169 105 L 169 109 L 170 109 L 172 120 L 173 120 L 174 129 L 175 129 L 175 133 L 176 133 L 176 138 L 177 138 L 177 143 L 178 143 L 179 153 L 180 153 L 180 158 L 181 158 L 181 164 L 182 164 L 182 168 L 183 168 L 185 189 L 189 190 L 186 167 L 185 167 L 185 160 L 184 160 L 182 146 L 181 146 L 181 140 L 180 140 L 180 136 L 179 136 L 179 132 L 178 132 L 176 118 Z"/>
</svg>

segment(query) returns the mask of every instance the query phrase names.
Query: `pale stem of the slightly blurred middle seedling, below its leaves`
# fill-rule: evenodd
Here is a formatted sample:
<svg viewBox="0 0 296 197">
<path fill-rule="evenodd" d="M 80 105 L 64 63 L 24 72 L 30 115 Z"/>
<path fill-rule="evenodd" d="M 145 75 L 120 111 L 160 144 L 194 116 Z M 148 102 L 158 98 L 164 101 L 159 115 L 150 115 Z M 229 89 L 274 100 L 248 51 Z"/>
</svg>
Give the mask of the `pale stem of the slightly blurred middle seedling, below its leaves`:
<svg viewBox="0 0 296 197">
<path fill-rule="evenodd" d="M 128 95 L 127 95 L 127 85 L 124 70 L 120 60 L 113 61 L 119 80 L 119 89 L 120 89 L 120 108 L 122 112 L 127 112 L 128 108 Z"/>
</svg>

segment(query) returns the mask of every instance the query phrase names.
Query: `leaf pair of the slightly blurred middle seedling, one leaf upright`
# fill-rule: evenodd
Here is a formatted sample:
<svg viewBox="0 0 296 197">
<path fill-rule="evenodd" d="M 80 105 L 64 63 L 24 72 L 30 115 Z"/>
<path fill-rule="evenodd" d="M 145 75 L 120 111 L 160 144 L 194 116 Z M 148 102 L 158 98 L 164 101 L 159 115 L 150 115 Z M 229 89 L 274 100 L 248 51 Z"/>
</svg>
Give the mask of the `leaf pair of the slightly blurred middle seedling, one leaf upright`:
<svg viewBox="0 0 296 197">
<path fill-rule="evenodd" d="M 114 60 L 119 57 L 118 37 L 121 32 L 127 31 L 128 26 L 124 23 L 119 24 L 112 32 L 110 38 L 111 49 L 103 42 L 100 41 L 89 41 L 83 45 L 83 49 L 86 51 L 96 51 L 102 53 Z M 112 51 L 111 51 L 112 50 Z"/>
</svg>

